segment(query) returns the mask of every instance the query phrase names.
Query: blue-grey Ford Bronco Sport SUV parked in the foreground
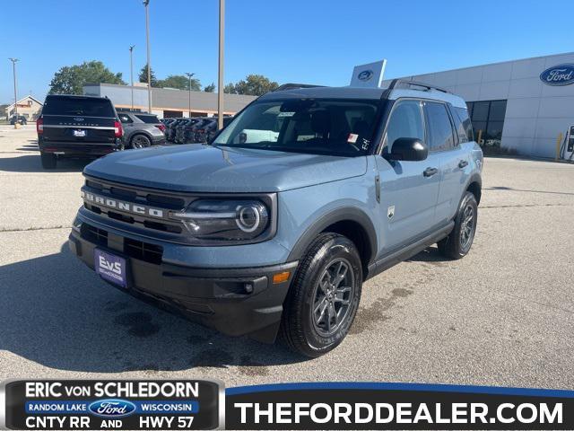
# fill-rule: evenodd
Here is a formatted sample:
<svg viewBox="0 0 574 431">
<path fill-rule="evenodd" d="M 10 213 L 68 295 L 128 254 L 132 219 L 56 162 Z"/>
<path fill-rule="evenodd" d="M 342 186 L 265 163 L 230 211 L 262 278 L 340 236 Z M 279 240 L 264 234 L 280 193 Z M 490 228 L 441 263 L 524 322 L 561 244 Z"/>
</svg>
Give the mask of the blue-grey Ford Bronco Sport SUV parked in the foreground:
<svg viewBox="0 0 574 431">
<path fill-rule="evenodd" d="M 69 244 L 127 293 L 320 356 L 351 328 L 365 280 L 433 243 L 468 253 L 482 166 L 454 94 L 287 84 L 210 145 L 89 164 Z"/>
</svg>

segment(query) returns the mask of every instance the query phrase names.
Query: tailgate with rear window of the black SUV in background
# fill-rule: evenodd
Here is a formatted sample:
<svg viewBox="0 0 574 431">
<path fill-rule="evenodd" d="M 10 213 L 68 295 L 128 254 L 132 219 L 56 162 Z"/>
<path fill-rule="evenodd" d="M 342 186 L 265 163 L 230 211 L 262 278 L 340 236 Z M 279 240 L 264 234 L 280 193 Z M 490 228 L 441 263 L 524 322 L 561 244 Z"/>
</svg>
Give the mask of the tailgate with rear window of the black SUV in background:
<svg viewBox="0 0 574 431">
<path fill-rule="evenodd" d="M 107 99 L 48 96 L 42 109 L 44 141 L 114 144 L 116 112 Z"/>
</svg>

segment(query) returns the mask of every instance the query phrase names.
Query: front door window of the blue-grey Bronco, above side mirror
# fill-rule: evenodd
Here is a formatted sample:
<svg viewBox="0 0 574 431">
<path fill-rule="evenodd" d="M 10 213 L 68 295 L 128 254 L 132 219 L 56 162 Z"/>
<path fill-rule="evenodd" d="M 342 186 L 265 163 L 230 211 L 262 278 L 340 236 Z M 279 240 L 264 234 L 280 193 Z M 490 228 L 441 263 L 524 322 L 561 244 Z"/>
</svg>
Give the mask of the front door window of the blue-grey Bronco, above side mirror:
<svg viewBox="0 0 574 431">
<path fill-rule="evenodd" d="M 420 101 L 398 101 L 387 123 L 387 152 L 399 137 L 417 137 L 424 141 L 424 122 Z"/>
</svg>

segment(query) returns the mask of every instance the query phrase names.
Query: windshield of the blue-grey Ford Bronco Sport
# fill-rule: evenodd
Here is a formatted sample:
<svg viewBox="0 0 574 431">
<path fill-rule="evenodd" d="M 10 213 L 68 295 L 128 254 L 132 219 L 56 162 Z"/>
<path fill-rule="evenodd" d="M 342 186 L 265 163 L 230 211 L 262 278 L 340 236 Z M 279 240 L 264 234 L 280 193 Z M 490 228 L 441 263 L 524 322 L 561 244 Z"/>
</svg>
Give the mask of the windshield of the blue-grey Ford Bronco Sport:
<svg viewBox="0 0 574 431">
<path fill-rule="evenodd" d="M 367 154 L 379 101 L 289 99 L 248 106 L 213 145 L 356 156 Z"/>
</svg>

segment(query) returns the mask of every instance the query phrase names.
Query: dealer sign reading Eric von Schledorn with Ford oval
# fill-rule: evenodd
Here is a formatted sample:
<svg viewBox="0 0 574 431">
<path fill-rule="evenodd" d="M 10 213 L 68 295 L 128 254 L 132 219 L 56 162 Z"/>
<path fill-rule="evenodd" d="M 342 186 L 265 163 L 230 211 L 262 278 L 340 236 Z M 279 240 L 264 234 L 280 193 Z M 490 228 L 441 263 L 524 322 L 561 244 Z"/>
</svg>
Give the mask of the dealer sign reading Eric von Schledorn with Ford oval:
<svg viewBox="0 0 574 431">
<path fill-rule="evenodd" d="M 13 380 L 0 387 L 7 429 L 222 428 L 223 386 L 206 380 Z"/>
</svg>

